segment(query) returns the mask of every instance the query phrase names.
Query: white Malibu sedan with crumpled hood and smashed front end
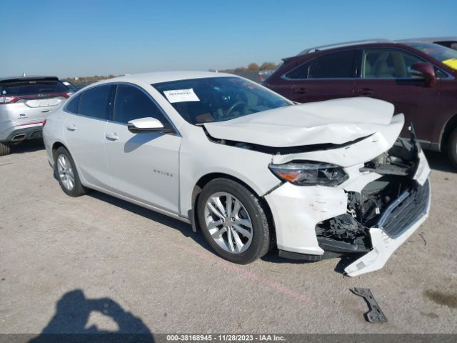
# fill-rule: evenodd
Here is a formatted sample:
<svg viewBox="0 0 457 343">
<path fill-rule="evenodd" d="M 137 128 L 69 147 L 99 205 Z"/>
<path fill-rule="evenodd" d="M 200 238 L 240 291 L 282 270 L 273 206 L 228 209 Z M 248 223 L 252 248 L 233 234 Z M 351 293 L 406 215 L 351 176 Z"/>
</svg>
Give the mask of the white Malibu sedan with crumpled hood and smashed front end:
<svg viewBox="0 0 457 343">
<path fill-rule="evenodd" d="M 192 224 L 224 259 L 353 254 L 380 269 L 421 225 L 430 169 L 403 115 L 368 98 L 293 104 L 211 72 L 116 77 L 71 96 L 44 126 L 66 194 L 88 189 Z"/>
</svg>

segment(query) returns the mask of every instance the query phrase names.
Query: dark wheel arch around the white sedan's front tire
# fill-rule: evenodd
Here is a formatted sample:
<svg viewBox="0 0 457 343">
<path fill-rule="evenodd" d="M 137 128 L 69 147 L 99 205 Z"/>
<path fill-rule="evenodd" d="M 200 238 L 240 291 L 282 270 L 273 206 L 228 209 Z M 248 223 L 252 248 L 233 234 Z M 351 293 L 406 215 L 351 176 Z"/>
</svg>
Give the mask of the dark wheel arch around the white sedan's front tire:
<svg viewBox="0 0 457 343">
<path fill-rule="evenodd" d="M 196 211 L 196 204 L 199 201 L 199 195 L 201 193 L 201 190 L 205 187 L 206 184 L 211 182 L 214 179 L 230 179 L 234 182 L 237 182 L 238 184 L 241 184 L 241 186 L 246 187 L 246 189 L 249 190 L 252 194 L 254 194 L 257 198 L 258 201 L 261 204 L 261 207 L 263 211 L 265 211 L 266 217 L 268 219 L 268 225 L 271 227 L 271 232 L 273 235 L 276 235 L 276 229 L 275 229 L 275 224 L 274 224 L 274 219 L 273 219 L 273 214 L 271 212 L 270 206 L 268 205 L 268 202 L 260 195 L 258 192 L 256 192 L 252 187 L 250 187 L 246 182 L 243 182 L 243 180 L 238 179 L 237 177 L 233 177 L 233 175 L 230 174 L 224 174 L 224 173 L 219 173 L 219 172 L 214 172 L 214 173 L 209 173 L 204 175 L 199 179 L 198 182 L 196 182 L 194 189 L 192 190 L 192 195 L 191 195 L 191 204 L 192 204 L 192 209 L 191 209 L 191 222 L 192 222 L 192 230 L 197 231 L 199 228 L 199 216 L 197 215 Z M 273 237 L 272 237 L 273 239 Z"/>
</svg>

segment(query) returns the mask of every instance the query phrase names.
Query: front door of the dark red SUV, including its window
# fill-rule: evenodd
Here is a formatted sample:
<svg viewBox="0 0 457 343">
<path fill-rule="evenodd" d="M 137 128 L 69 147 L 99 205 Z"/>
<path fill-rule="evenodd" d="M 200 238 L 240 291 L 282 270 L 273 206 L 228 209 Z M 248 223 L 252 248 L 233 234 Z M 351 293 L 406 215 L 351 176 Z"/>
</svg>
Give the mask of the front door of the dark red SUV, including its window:
<svg viewBox="0 0 457 343">
<path fill-rule="evenodd" d="M 371 96 L 395 106 L 395 113 L 405 115 L 402 136 L 409 136 L 414 124 L 418 139 L 433 140 L 431 126 L 439 111 L 439 87 L 426 87 L 421 78 L 411 75 L 411 66 L 427 62 L 401 49 L 364 49 L 361 51 L 361 73 L 356 80 L 356 96 Z"/>
</svg>

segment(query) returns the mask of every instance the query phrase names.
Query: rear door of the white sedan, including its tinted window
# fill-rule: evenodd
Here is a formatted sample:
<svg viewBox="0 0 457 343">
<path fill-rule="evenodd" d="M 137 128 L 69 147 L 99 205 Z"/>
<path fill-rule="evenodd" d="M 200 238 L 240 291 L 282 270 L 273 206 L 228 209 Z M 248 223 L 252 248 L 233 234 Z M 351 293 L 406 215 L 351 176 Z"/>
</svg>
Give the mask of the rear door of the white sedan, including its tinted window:
<svg viewBox="0 0 457 343">
<path fill-rule="evenodd" d="M 80 176 L 93 187 L 111 188 L 104 151 L 106 122 L 116 86 L 94 86 L 72 98 L 64 136 Z"/>
</svg>

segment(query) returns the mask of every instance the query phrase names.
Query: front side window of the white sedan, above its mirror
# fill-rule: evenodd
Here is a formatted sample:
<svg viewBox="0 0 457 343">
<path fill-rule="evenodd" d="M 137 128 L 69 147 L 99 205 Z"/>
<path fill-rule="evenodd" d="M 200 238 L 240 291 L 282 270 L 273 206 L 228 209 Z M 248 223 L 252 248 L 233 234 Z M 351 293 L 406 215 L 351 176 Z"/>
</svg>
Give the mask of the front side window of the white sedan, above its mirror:
<svg viewBox="0 0 457 343">
<path fill-rule="evenodd" d="M 159 119 L 166 129 L 171 129 L 168 119 L 149 96 L 134 86 L 119 84 L 114 101 L 114 121 L 127 124 L 147 116 Z"/>
</svg>

